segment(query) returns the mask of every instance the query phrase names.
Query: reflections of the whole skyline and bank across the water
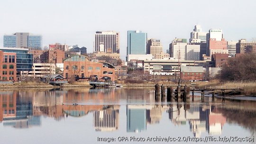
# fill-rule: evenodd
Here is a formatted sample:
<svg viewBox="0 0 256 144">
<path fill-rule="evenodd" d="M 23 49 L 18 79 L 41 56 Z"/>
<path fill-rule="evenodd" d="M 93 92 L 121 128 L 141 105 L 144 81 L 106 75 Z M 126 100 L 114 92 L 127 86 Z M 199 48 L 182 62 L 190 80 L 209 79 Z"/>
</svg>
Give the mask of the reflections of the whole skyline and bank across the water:
<svg viewBox="0 0 256 144">
<path fill-rule="evenodd" d="M 126 118 L 121 119 L 119 113 L 126 114 Z M 160 125 L 161 129 L 166 125 L 162 124 L 163 118 L 177 128 L 188 125 L 195 137 L 222 135 L 226 123 L 241 125 L 252 135 L 256 131 L 254 101 L 212 102 L 205 98 L 201 102 L 200 97 L 195 97 L 190 103 L 155 102 L 151 90 L 124 88 L 0 91 L 0 122 L 6 127 L 42 126 L 43 117 L 58 122 L 87 116 L 92 117 L 90 123 L 96 132 L 117 132 L 120 126 L 125 127 L 120 120 L 126 121 L 127 133 L 146 132 L 150 125 Z"/>
</svg>

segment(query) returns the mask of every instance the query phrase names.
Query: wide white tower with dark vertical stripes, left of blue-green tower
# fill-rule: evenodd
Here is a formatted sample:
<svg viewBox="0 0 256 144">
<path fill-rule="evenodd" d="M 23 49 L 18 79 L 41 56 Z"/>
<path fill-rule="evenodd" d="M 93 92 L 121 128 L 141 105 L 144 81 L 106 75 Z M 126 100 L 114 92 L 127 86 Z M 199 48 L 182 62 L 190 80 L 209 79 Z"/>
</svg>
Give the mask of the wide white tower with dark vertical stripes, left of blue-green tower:
<svg viewBox="0 0 256 144">
<path fill-rule="evenodd" d="M 119 53 L 119 33 L 115 31 L 97 31 L 95 33 L 94 51 Z"/>
</svg>

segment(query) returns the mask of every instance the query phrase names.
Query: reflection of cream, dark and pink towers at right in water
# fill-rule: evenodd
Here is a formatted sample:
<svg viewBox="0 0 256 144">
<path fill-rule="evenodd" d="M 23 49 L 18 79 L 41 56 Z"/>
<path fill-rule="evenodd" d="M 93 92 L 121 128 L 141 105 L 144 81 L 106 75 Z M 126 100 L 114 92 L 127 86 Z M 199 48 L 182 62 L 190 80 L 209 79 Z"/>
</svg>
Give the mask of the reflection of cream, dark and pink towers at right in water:
<svg viewBox="0 0 256 144">
<path fill-rule="evenodd" d="M 174 125 L 186 125 L 188 121 L 195 137 L 200 137 L 204 132 L 208 132 L 209 135 L 221 135 L 223 125 L 227 121 L 214 105 L 189 104 L 170 106 L 169 119 Z"/>
</svg>

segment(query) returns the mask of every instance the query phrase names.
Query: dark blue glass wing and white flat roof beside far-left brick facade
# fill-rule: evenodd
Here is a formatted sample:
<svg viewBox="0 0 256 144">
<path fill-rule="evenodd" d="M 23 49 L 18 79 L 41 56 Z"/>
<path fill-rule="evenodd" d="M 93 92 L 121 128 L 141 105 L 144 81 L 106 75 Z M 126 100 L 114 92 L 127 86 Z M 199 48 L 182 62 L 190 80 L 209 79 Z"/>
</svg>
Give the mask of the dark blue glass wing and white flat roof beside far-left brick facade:
<svg viewBox="0 0 256 144">
<path fill-rule="evenodd" d="M 27 54 L 27 48 L 0 48 L 7 53 L 16 53 L 17 71 L 32 71 L 33 54 Z"/>
</svg>

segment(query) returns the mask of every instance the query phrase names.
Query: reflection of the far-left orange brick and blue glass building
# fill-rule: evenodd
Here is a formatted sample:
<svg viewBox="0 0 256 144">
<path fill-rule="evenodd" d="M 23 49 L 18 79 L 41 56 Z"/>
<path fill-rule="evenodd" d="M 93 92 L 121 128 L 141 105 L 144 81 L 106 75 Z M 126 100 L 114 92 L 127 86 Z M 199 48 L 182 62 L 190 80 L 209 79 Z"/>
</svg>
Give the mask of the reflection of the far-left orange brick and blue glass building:
<svg viewBox="0 0 256 144">
<path fill-rule="evenodd" d="M 15 91 L 0 92 L 0 122 L 3 126 L 28 128 L 41 126 L 41 116 L 33 115 L 32 99 Z"/>
</svg>

